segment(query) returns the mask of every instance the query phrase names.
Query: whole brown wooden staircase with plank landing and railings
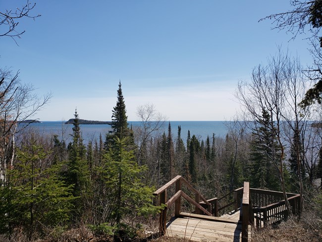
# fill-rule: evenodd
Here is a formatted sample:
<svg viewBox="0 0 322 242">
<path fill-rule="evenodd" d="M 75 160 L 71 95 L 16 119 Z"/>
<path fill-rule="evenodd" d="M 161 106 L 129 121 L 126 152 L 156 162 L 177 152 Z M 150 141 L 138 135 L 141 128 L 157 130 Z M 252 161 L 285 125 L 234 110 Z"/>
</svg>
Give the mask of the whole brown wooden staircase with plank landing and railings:
<svg viewBox="0 0 322 242">
<path fill-rule="evenodd" d="M 174 195 L 167 200 L 167 191 L 172 185 L 175 185 Z M 194 198 L 182 190 L 183 185 L 187 193 L 194 194 Z M 252 226 L 262 228 L 287 218 L 285 201 L 280 199 L 281 192 L 250 188 L 249 182 L 244 182 L 243 187 L 221 198 L 207 200 L 183 177 L 177 176 L 153 194 L 159 199 L 160 205 L 165 204 L 160 213 L 160 234 L 171 238 L 247 242 L 251 239 Z M 293 214 L 298 214 L 301 211 L 300 195 L 287 193 L 287 196 Z M 228 197 L 233 197 L 233 200 L 229 201 Z M 181 198 L 194 205 L 193 213 L 181 211 Z M 167 211 L 173 204 L 174 217 L 167 222 Z M 227 212 L 219 217 L 222 211 Z"/>
</svg>

